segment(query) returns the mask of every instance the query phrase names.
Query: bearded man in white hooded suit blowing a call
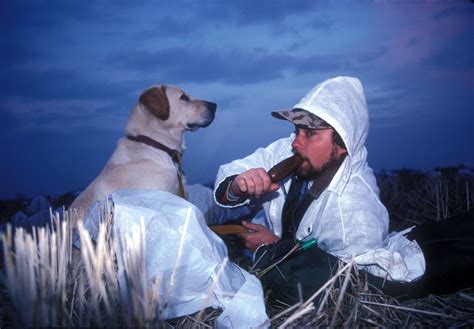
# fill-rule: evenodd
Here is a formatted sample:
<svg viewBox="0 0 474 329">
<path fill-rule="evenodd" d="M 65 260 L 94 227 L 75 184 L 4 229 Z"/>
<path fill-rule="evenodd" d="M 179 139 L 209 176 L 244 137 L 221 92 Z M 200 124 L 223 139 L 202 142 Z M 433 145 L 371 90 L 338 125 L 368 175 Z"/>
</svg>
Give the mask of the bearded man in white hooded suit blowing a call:
<svg viewBox="0 0 474 329">
<path fill-rule="evenodd" d="M 284 240 L 315 239 L 318 248 L 313 248 L 312 255 L 299 257 L 300 263 L 307 264 L 303 288 L 310 290 L 324 282 L 312 278 L 314 273 L 329 273 L 327 261 L 316 261 L 321 255 L 330 260 L 353 258 L 361 268 L 389 280 L 410 282 L 421 276 L 425 262 L 418 244 L 401 233 L 388 234 L 387 210 L 367 164 L 364 143 L 369 121 L 360 81 L 351 77 L 326 80 L 291 110 L 272 115 L 293 123 L 295 134 L 221 166 L 217 174 L 219 205 L 261 203 L 265 210 L 268 225 L 242 223 L 248 229 L 239 235 L 245 246 L 255 251 Z M 303 160 L 296 174 L 281 184 L 272 183 L 267 171 L 294 153 Z M 306 192 L 300 196 L 300 190 Z M 294 288 L 289 300 L 295 300 Z"/>
</svg>

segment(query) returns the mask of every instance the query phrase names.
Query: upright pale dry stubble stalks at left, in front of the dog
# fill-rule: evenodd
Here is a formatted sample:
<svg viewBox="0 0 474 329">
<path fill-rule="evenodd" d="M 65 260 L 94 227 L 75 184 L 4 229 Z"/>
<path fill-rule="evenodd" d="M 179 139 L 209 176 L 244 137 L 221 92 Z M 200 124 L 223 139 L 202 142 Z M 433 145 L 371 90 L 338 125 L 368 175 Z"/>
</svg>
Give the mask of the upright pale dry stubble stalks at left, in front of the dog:
<svg viewBox="0 0 474 329">
<path fill-rule="evenodd" d="M 105 214 L 105 212 L 104 212 Z M 157 295 L 159 278 L 147 282 L 145 230 L 112 237 L 110 218 L 103 216 L 92 240 L 77 213 L 52 216 L 55 230 L 27 233 L 8 228 L 1 235 L 3 325 L 14 326 L 162 326 Z M 73 248 L 77 222 L 80 251 Z M 115 240 L 115 241 L 114 241 Z M 123 252 L 123 275 L 117 271 L 116 243 Z M 120 285 L 119 285 L 120 281 Z"/>
</svg>

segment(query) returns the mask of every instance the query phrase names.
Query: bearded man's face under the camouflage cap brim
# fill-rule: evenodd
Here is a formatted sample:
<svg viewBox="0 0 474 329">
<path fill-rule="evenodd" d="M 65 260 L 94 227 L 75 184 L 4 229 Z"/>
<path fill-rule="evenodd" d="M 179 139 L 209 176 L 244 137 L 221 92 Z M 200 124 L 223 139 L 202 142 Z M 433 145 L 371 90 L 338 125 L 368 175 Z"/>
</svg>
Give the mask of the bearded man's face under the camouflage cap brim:
<svg viewBox="0 0 474 329">
<path fill-rule="evenodd" d="M 336 145 L 333 140 L 333 129 L 296 128 L 293 149 L 303 159 L 298 168 L 298 176 L 303 179 L 316 178 L 326 168 L 339 161 L 347 151 Z"/>
</svg>

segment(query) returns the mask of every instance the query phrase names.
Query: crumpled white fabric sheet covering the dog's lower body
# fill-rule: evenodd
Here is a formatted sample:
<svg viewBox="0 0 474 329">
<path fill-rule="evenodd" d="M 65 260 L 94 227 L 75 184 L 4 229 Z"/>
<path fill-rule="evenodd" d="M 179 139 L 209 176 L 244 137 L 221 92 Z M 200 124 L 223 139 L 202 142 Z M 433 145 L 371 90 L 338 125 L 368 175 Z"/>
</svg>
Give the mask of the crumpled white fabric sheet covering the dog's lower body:
<svg viewBox="0 0 474 329">
<path fill-rule="evenodd" d="M 116 242 L 119 236 L 131 236 L 140 221 L 145 225 L 146 277 L 149 282 L 161 278 L 160 299 L 167 300 L 164 318 L 211 306 L 223 310 L 215 323 L 219 328 L 268 326 L 260 281 L 228 261 L 224 242 L 207 227 L 196 206 L 168 192 L 150 190 L 122 190 L 109 199 Z M 85 221 L 93 237 L 98 232 L 94 214 L 99 206 L 91 208 Z M 122 248 L 116 244 L 123 289 Z"/>
</svg>

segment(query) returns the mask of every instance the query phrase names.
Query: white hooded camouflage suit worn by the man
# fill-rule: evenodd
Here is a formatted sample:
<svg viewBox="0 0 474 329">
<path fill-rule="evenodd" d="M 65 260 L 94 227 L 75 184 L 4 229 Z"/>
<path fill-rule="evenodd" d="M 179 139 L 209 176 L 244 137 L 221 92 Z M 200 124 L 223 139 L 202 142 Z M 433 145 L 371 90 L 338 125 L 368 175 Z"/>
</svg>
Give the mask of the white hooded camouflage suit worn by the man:
<svg viewBox="0 0 474 329">
<path fill-rule="evenodd" d="M 336 77 L 316 85 L 293 108 L 309 111 L 329 123 L 341 136 L 348 155 L 330 185 L 314 200 L 304 214 L 296 238 L 316 238 L 318 247 L 342 259 L 354 258 L 359 267 L 389 280 L 410 282 L 425 270 L 423 252 L 405 232 L 388 233 L 388 213 L 379 199 L 379 189 L 367 164 L 364 144 L 369 129 L 368 109 L 360 81 Z M 253 154 L 220 167 L 216 189 L 227 177 L 251 168 L 269 170 L 291 156 L 291 134 L 259 148 Z M 262 197 L 263 208 L 271 229 L 282 235 L 282 209 L 291 179 L 274 193 Z M 222 207 L 228 206 L 217 198 Z"/>
</svg>

